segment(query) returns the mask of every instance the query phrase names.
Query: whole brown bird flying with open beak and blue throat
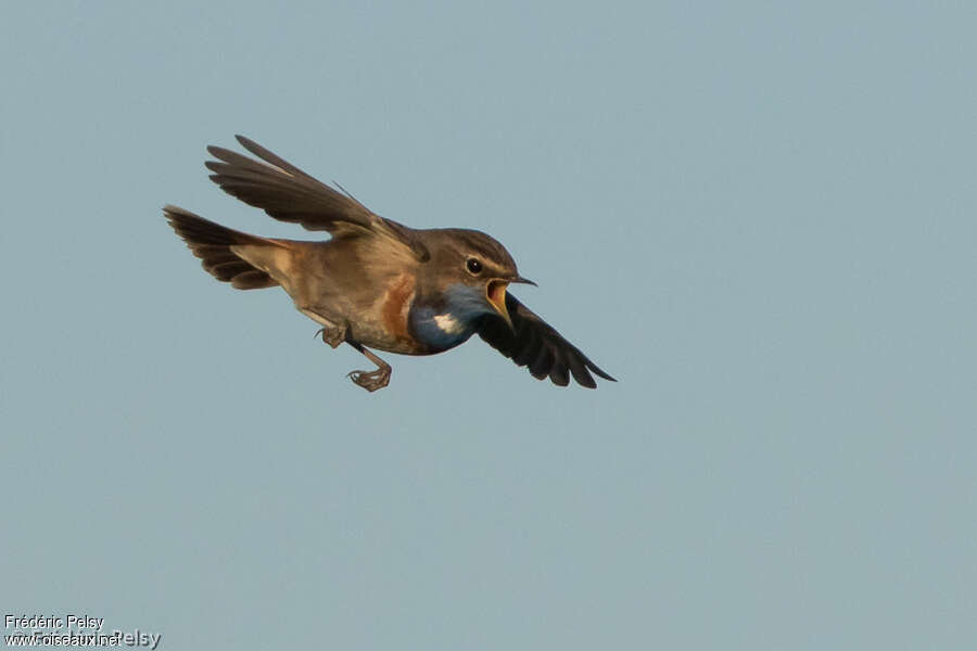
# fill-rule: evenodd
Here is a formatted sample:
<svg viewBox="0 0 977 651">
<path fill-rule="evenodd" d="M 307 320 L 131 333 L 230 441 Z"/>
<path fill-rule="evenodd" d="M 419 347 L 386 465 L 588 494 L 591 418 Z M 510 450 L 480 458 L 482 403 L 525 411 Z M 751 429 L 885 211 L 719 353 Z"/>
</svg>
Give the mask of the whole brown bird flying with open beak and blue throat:
<svg viewBox="0 0 977 651">
<path fill-rule="evenodd" d="M 473 334 L 528 367 L 537 380 L 595 388 L 592 372 L 617 382 L 546 321 L 507 292 L 536 283 L 519 275 L 498 241 L 478 230 L 414 229 L 371 212 L 342 186 L 302 171 L 243 136 L 256 158 L 208 146 L 205 166 L 221 190 L 275 219 L 330 239 L 263 238 L 220 226 L 167 204 L 169 226 L 214 278 L 239 290 L 280 286 L 321 328 L 332 348 L 346 343 L 376 369 L 347 376 L 375 392 L 392 368 L 370 348 L 434 355 Z"/>
</svg>

